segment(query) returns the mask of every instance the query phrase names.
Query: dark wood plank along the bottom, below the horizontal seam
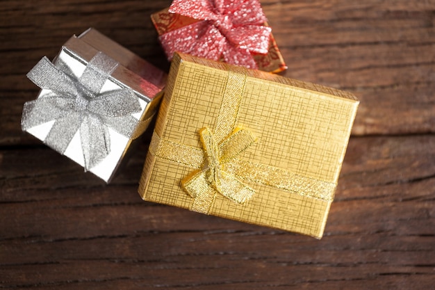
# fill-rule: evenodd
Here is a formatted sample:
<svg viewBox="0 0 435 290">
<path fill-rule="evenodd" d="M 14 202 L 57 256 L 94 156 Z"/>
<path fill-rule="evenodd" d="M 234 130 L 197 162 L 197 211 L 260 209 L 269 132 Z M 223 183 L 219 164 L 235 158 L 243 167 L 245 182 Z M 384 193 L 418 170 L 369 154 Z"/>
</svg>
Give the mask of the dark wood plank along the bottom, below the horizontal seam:
<svg viewBox="0 0 435 290">
<path fill-rule="evenodd" d="M 321 241 L 142 202 L 130 173 L 145 150 L 110 186 L 52 150 L 2 151 L 1 168 L 16 165 L 0 171 L 0 285 L 429 289 L 434 145 L 352 138 Z"/>
</svg>

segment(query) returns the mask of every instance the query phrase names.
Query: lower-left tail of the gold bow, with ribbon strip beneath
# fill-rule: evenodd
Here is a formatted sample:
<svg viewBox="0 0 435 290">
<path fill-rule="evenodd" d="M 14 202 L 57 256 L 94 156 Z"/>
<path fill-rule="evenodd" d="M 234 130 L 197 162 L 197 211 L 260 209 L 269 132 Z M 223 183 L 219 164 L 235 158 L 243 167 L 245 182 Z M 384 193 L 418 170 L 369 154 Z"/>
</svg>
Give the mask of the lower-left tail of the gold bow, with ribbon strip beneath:
<svg viewBox="0 0 435 290">
<path fill-rule="evenodd" d="M 193 176 L 186 177 L 181 181 L 184 190 L 194 198 L 190 207 L 191 211 L 201 214 L 209 214 L 215 202 L 217 191 L 208 184 L 206 171 L 197 171 Z"/>
</svg>

